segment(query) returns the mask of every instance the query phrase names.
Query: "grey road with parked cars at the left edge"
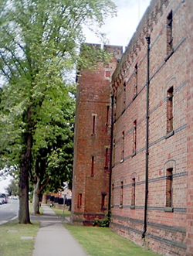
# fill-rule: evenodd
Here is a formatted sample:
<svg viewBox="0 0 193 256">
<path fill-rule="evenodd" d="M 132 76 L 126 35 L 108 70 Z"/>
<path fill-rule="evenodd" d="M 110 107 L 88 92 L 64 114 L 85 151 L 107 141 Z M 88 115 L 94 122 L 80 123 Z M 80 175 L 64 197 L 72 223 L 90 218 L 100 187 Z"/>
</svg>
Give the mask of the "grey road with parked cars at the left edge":
<svg viewBox="0 0 193 256">
<path fill-rule="evenodd" d="M 8 203 L 0 205 L 0 224 L 17 218 L 19 213 L 19 200 L 8 199 Z"/>
</svg>

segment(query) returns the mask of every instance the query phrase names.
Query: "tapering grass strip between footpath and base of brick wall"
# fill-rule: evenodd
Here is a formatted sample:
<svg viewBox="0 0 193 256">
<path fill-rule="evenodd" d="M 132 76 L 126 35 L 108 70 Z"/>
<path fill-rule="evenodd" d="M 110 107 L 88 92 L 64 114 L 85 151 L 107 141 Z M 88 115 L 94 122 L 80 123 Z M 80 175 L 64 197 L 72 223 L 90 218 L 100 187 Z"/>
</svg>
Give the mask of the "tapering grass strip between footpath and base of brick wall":
<svg viewBox="0 0 193 256">
<path fill-rule="evenodd" d="M 84 227 L 64 224 L 90 256 L 157 256 L 107 227 Z"/>
</svg>

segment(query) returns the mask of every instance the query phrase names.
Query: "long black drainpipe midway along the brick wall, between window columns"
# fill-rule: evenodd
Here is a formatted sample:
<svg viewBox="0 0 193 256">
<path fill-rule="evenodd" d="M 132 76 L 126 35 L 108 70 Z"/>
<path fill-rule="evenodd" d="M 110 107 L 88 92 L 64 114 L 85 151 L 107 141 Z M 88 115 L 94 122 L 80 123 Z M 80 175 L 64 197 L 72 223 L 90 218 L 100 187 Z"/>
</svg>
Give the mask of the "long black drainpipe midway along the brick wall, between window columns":
<svg viewBox="0 0 193 256">
<path fill-rule="evenodd" d="M 150 35 L 146 36 L 147 40 L 147 90 L 146 90 L 146 159 L 145 159 L 145 203 L 144 203 L 144 232 L 147 231 L 147 196 L 148 196 L 148 158 L 149 158 L 149 85 L 150 85 Z"/>
</svg>

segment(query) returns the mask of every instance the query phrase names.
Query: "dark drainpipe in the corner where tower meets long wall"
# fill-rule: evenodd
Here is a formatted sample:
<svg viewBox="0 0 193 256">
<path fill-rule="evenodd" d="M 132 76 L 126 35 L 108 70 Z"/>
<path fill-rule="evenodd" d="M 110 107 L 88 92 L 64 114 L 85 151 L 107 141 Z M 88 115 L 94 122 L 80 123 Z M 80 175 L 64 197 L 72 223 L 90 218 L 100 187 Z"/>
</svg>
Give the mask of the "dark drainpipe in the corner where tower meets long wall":
<svg viewBox="0 0 193 256">
<path fill-rule="evenodd" d="M 111 95 L 111 117 L 110 117 L 110 177 L 109 177 L 109 204 L 108 217 L 110 217 L 110 200 L 111 200 L 111 176 L 112 176 L 112 155 L 113 155 L 113 104 L 114 96 Z"/>
</svg>

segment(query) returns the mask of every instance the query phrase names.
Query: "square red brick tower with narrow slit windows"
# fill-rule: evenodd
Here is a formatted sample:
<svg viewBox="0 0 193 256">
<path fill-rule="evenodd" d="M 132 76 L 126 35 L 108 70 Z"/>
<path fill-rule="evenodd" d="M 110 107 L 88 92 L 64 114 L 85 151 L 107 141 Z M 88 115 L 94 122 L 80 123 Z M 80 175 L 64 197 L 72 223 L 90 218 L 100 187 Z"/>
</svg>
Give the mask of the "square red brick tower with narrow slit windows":
<svg viewBox="0 0 193 256">
<path fill-rule="evenodd" d="M 100 47 L 100 45 L 95 45 Z M 110 81 L 123 53 L 104 46 L 113 59 L 97 70 L 80 70 L 76 89 L 71 222 L 84 225 L 108 210 L 110 183 Z"/>
</svg>

